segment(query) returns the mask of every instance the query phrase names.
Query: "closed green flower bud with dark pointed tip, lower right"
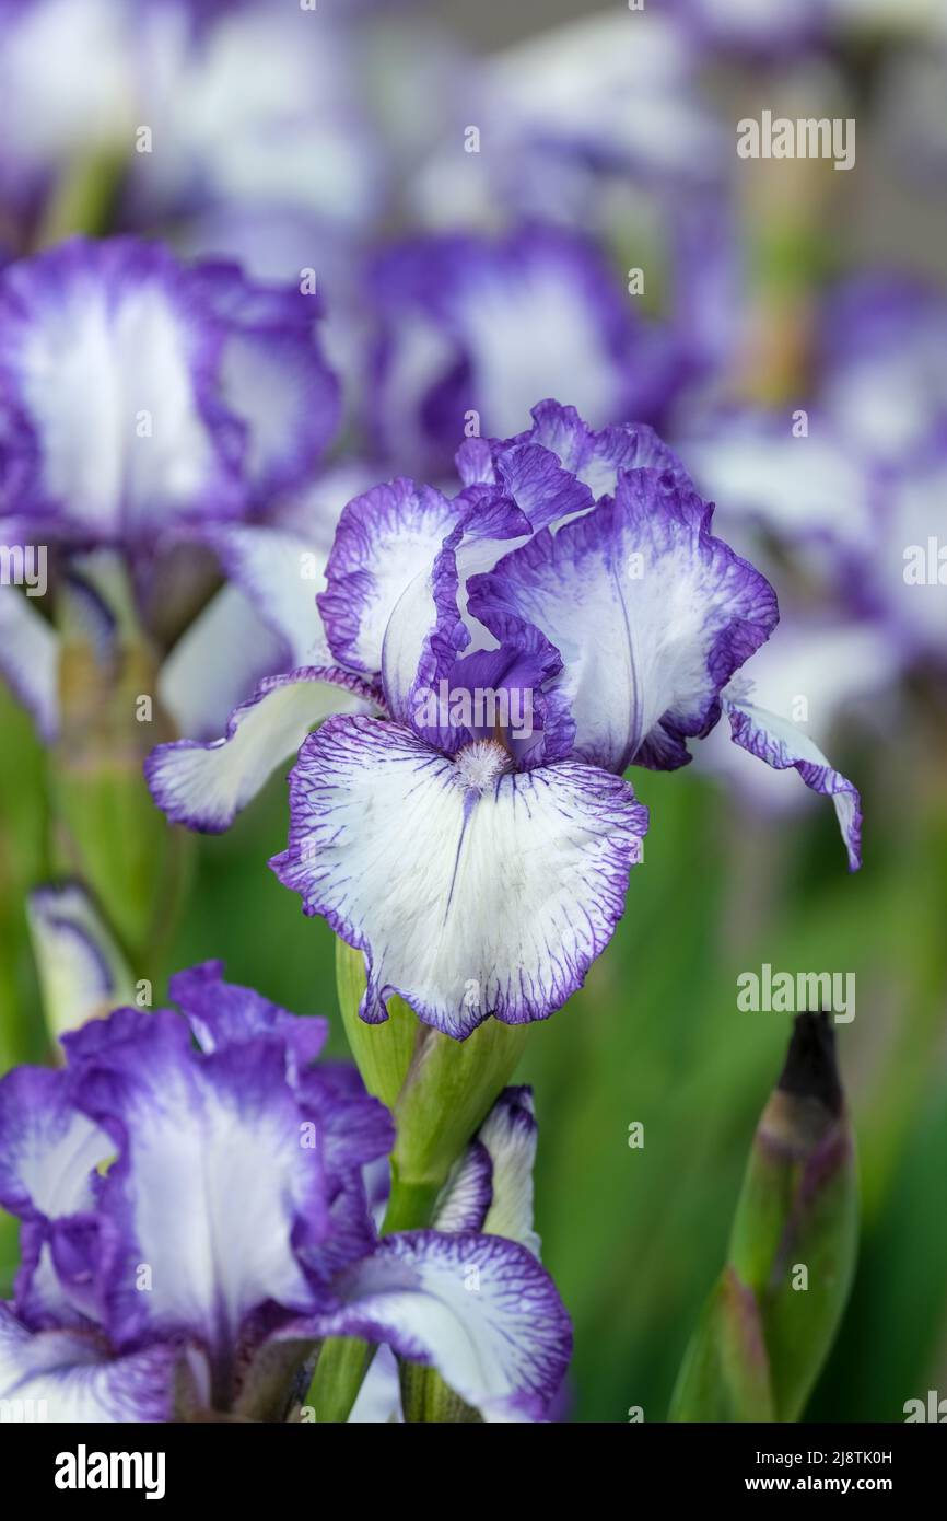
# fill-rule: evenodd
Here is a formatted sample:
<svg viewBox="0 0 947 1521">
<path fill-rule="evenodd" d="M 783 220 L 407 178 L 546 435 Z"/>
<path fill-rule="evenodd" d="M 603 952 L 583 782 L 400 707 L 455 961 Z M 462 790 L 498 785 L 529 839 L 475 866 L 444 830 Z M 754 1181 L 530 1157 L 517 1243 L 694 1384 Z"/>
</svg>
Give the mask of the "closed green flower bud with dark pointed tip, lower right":
<svg viewBox="0 0 947 1521">
<path fill-rule="evenodd" d="M 827 1015 L 800 1015 L 670 1419 L 798 1421 L 835 1340 L 856 1247 L 854 1141 L 835 1036 Z"/>
</svg>

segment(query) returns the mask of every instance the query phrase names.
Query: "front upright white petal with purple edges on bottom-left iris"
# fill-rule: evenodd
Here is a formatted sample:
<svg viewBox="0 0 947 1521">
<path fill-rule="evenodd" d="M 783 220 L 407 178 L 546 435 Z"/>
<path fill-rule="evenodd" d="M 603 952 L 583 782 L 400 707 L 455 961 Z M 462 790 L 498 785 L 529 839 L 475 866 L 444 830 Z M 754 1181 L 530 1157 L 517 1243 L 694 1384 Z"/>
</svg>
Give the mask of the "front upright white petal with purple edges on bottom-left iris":
<svg viewBox="0 0 947 1521">
<path fill-rule="evenodd" d="M 193 1340 L 225 1408 L 248 1317 L 316 1307 L 296 1252 L 328 1230 L 325 1174 L 286 1051 L 261 1037 L 201 1057 L 161 1010 L 119 1011 L 65 1043 L 78 1101 L 119 1151 L 97 1191 L 109 1340 Z"/>
</svg>

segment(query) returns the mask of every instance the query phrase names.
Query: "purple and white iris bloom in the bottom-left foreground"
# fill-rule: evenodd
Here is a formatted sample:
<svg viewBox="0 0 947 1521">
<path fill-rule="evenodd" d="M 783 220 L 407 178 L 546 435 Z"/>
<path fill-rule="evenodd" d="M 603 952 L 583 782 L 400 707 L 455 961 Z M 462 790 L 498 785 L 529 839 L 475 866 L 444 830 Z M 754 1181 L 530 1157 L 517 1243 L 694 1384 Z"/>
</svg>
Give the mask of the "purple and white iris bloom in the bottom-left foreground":
<svg viewBox="0 0 947 1521">
<path fill-rule="evenodd" d="M 523 1148 L 491 1151 L 512 1101 L 439 1227 L 378 1240 L 363 1170 L 392 1122 L 354 1069 L 313 1065 L 325 1021 L 217 963 L 172 996 L 184 1018 L 119 1008 L 64 1037 L 65 1068 L 0 1083 L 0 1202 L 21 1221 L 0 1396 L 50 1421 L 283 1421 L 318 1343 L 356 1335 L 436 1367 L 486 1421 L 544 1419 L 572 1335 Z"/>
</svg>

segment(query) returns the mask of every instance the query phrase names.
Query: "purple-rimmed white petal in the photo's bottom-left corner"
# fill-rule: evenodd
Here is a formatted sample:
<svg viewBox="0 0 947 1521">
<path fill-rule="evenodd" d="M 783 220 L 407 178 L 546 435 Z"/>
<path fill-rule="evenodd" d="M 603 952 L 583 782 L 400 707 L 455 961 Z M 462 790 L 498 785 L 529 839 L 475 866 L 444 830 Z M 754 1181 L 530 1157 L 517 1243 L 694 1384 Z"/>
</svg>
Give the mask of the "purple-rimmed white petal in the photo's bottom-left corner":
<svg viewBox="0 0 947 1521">
<path fill-rule="evenodd" d="M 32 1332 L 0 1303 L 0 1401 L 5 1419 L 170 1421 L 178 1351 L 152 1346 L 116 1358 L 82 1331 Z"/>
</svg>

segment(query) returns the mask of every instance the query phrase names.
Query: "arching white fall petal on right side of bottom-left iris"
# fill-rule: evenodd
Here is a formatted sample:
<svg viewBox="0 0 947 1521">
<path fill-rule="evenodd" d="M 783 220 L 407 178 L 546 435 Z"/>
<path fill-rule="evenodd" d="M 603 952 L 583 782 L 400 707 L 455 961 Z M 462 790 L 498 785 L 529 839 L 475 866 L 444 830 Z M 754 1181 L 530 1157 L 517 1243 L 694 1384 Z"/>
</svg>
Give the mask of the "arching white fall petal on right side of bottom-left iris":
<svg viewBox="0 0 947 1521">
<path fill-rule="evenodd" d="M 572 1355 L 555 1284 L 514 1241 L 410 1230 L 336 1281 L 327 1335 L 386 1342 L 438 1369 L 486 1421 L 543 1421 Z"/>
</svg>

